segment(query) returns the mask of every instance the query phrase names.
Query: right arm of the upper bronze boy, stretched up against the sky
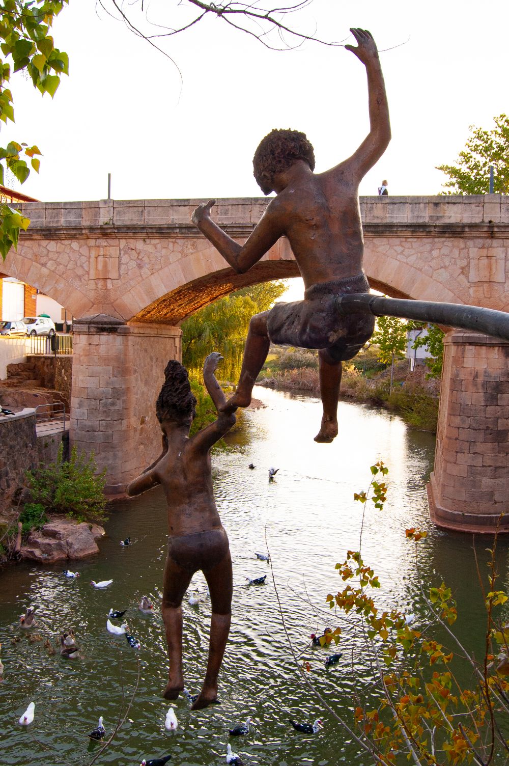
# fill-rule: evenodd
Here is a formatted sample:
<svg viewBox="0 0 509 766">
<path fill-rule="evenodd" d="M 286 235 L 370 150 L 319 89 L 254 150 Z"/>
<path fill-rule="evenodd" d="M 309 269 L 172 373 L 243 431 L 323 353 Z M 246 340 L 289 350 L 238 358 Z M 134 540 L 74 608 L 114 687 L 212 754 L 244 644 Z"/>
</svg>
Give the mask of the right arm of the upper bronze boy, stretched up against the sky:
<svg viewBox="0 0 509 766">
<path fill-rule="evenodd" d="M 357 40 L 357 47 L 345 45 L 362 61 L 367 72 L 367 90 L 370 110 L 370 133 L 356 152 L 347 159 L 343 166 L 354 165 L 354 174 L 358 180 L 373 167 L 387 149 L 390 142 L 389 105 L 383 82 L 382 67 L 378 57 L 377 44 L 367 29 L 351 29 Z"/>
</svg>

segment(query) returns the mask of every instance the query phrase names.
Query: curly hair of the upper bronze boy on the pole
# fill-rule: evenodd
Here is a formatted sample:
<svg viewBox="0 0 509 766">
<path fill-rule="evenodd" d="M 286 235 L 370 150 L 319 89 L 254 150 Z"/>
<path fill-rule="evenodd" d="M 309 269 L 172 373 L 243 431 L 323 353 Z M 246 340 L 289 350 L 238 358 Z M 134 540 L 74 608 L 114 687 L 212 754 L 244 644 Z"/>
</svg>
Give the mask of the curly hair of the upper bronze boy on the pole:
<svg viewBox="0 0 509 766">
<path fill-rule="evenodd" d="M 263 138 L 253 157 L 253 175 L 256 182 L 263 171 L 279 173 L 288 169 L 296 159 L 303 159 L 315 170 L 315 151 L 305 133 L 298 130 L 274 129 Z"/>
</svg>

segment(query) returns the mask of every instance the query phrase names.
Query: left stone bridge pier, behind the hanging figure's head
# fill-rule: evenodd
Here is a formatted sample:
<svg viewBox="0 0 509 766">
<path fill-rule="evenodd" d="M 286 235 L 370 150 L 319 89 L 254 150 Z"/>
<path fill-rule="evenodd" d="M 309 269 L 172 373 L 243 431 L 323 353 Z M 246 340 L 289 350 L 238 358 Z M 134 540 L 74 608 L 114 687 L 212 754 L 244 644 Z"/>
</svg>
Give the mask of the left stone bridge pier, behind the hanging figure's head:
<svg viewBox="0 0 509 766">
<path fill-rule="evenodd" d="M 106 468 L 109 496 L 160 453 L 155 400 L 168 359 L 181 359 L 179 327 L 105 314 L 74 322 L 70 445 Z"/>
</svg>

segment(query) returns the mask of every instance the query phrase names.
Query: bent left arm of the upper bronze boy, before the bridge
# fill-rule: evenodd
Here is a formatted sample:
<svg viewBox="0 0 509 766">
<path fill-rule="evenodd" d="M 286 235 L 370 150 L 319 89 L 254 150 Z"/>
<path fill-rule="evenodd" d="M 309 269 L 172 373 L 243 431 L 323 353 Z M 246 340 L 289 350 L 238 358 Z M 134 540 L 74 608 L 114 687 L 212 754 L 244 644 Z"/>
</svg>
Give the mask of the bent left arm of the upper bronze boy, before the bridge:
<svg viewBox="0 0 509 766">
<path fill-rule="evenodd" d="M 273 244 L 276 244 L 284 231 L 276 220 L 274 206 L 271 202 L 253 229 L 253 234 L 248 237 L 245 244 L 239 244 L 210 218 L 210 208 L 215 204 L 215 199 L 210 199 L 207 203 L 198 205 L 191 216 L 191 221 L 207 237 L 207 240 L 219 250 L 232 269 L 237 274 L 243 274 L 254 266 Z"/>
</svg>

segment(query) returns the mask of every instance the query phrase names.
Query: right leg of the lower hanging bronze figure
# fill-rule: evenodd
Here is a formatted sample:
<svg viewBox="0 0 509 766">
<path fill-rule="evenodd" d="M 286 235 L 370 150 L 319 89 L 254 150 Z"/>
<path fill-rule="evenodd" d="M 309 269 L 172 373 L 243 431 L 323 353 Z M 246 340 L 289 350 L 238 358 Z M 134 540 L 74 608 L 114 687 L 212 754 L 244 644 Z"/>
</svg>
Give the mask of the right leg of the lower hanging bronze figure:
<svg viewBox="0 0 509 766">
<path fill-rule="evenodd" d="M 219 564 L 204 572 L 204 575 L 209 587 L 212 605 L 210 644 L 204 685 L 200 696 L 192 706 L 193 710 L 200 710 L 206 708 L 211 702 L 217 702 L 217 676 L 223 661 L 231 622 L 233 575 L 230 551 L 227 551 Z"/>
</svg>

